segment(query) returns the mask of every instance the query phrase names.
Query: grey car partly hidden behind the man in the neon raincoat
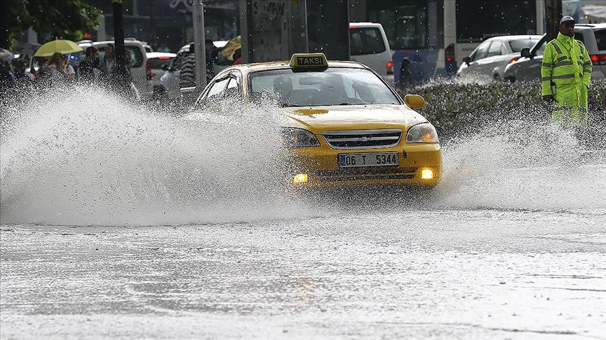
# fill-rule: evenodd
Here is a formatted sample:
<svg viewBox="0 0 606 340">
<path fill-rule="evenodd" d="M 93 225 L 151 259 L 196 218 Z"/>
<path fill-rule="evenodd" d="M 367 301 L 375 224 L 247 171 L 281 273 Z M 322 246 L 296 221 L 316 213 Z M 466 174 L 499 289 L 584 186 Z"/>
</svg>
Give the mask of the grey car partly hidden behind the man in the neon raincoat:
<svg viewBox="0 0 606 340">
<path fill-rule="evenodd" d="M 576 24 L 574 38 L 582 41 L 593 63 L 591 79 L 606 78 L 606 23 Z M 524 48 L 522 57 L 505 68 L 504 80 L 539 80 L 547 38 L 543 36 L 532 48 Z"/>
</svg>

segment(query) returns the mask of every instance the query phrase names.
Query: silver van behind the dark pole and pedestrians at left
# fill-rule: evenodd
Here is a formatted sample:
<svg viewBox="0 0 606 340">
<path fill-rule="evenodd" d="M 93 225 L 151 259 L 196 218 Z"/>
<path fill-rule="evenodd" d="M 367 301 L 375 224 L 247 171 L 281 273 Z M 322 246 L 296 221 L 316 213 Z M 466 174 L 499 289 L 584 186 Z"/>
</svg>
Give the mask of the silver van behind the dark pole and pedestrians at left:
<svg viewBox="0 0 606 340">
<path fill-rule="evenodd" d="M 79 55 L 79 59 L 82 60 L 86 57 L 86 48 L 94 46 L 99 51 L 99 61 L 104 62 L 105 48 L 110 43 L 113 44 L 114 41 L 79 41 L 78 45 L 83 49 L 83 52 Z M 128 51 L 130 60 L 133 62 L 130 74 L 133 76 L 135 87 L 137 87 L 143 99 L 152 98 L 152 85 L 149 82 L 152 69 L 151 65 L 147 62 L 147 51 L 144 44 L 140 41 L 125 40 L 124 47 Z"/>
</svg>

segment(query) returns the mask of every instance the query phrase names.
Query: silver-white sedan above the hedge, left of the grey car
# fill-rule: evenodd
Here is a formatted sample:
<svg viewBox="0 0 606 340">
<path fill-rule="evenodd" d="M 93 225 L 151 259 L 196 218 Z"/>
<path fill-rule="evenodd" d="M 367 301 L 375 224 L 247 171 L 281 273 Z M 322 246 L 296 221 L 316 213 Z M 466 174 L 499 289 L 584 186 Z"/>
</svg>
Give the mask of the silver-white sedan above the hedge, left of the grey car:
<svg viewBox="0 0 606 340">
<path fill-rule="evenodd" d="M 507 64 L 520 59 L 520 52 L 541 40 L 539 35 L 495 36 L 488 38 L 464 57 L 457 76 L 484 75 L 503 80 Z"/>
</svg>

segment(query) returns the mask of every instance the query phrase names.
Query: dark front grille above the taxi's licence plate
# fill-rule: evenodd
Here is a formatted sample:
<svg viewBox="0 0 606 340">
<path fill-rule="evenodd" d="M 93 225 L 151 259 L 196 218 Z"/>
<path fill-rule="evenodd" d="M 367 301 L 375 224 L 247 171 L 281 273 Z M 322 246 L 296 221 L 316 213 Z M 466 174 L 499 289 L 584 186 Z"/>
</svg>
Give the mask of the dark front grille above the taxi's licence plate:
<svg viewBox="0 0 606 340">
<path fill-rule="evenodd" d="M 400 143 L 402 130 L 325 131 L 322 136 L 333 149 L 391 148 Z"/>
</svg>

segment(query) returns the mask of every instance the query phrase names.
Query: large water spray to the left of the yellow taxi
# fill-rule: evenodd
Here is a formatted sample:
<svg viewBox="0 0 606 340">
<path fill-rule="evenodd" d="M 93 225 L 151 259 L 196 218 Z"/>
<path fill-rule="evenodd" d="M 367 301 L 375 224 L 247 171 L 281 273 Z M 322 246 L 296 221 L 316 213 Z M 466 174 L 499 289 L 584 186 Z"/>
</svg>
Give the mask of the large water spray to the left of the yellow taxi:
<svg viewBox="0 0 606 340">
<path fill-rule="evenodd" d="M 305 215 L 281 199 L 272 162 L 280 124 L 271 112 L 232 107 L 220 120 L 177 119 L 100 89 L 41 97 L 3 115 L 1 222 L 182 225 Z"/>
</svg>

